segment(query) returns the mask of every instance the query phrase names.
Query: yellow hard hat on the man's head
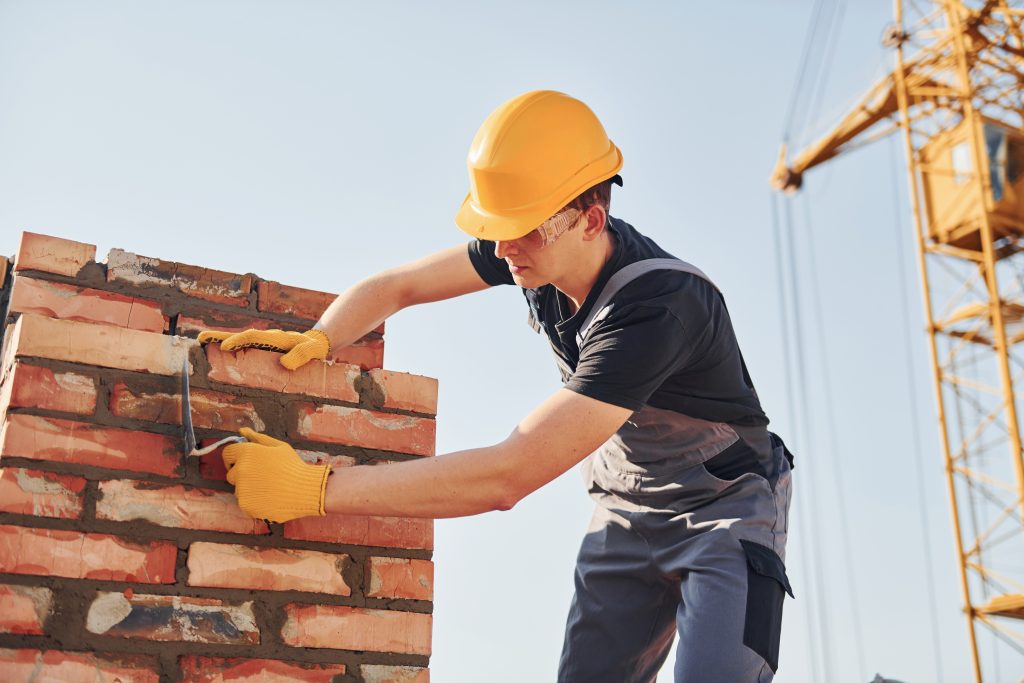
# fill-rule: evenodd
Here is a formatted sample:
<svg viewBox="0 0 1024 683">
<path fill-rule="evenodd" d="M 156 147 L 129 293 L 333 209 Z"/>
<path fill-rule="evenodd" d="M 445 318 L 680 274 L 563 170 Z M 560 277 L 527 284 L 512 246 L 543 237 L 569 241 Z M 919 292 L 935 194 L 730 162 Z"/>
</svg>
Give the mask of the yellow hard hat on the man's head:
<svg viewBox="0 0 1024 683">
<path fill-rule="evenodd" d="M 459 227 L 483 240 L 526 234 L 623 167 L 623 153 L 579 99 L 534 90 L 495 110 L 466 159 L 469 195 Z"/>
</svg>

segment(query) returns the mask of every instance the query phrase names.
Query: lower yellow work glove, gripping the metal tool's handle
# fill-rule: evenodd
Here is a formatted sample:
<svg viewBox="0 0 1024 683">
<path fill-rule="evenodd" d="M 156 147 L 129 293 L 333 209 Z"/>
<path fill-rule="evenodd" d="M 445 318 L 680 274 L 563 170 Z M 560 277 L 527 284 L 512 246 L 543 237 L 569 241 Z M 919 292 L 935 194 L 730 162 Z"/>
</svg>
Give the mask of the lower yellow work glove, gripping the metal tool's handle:
<svg viewBox="0 0 1024 683">
<path fill-rule="evenodd" d="M 292 446 L 248 427 L 240 433 L 248 440 L 224 446 L 224 467 L 243 512 L 272 522 L 327 514 L 330 465 L 303 462 Z"/>
</svg>

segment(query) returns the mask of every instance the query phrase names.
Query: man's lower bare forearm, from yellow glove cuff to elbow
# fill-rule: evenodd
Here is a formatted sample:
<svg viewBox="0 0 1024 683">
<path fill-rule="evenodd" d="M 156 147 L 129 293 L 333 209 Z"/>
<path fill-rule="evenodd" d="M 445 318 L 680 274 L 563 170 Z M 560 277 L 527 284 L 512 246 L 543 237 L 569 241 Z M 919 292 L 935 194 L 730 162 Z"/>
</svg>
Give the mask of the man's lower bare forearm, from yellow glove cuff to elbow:
<svg viewBox="0 0 1024 683">
<path fill-rule="evenodd" d="M 395 517 L 463 517 L 507 510 L 521 498 L 501 445 L 388 465 L 337 467 L 328 512 Z"/>
</svg>

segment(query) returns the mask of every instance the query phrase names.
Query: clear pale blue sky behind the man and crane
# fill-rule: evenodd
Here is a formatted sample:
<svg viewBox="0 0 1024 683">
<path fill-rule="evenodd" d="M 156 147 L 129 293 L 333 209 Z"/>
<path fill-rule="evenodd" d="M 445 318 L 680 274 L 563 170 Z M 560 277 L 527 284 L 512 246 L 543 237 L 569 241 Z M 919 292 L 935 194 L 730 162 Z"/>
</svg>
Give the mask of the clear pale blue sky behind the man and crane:
<svg viewBox="0 0 1024 683">
<path fill-rule="evenodd" d="M 889 0 L 847 5 L 818 130 L 889 63 Z M 341 291 L 464 242 L 477 126 L 523 91 L 568 92 L 624 152 L 612 214 L 715 279 L 797 454 L 776 680 L 969 680 L 903 160 L 886 142 L 809 174 L 792 206 L 807 408 L 787 401 L 767 178 L 811 8 L 0 0 L 0 253 L 30 229 Z M 389 322 L 385 366 L 440 379 L 439 453 L 504 438 L 558 388 L 525 318 L 509 287 Z M 573 470 L 512 511 L 437 522 L 435 681 L 554 679 L 590 511 Z M 992 680 L 1022 670 L 1002 650 Z"/>
</svg>

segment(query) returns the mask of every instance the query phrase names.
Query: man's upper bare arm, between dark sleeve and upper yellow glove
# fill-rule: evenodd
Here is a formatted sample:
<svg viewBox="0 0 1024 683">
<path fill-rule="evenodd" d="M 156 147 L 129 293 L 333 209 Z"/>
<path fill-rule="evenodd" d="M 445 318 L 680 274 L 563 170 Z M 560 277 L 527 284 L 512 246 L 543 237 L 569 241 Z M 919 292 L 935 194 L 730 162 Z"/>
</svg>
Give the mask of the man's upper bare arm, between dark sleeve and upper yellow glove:
<svg viewBox="0 0 1024 683">
<path fill-rule="evenodd" d="M 332 348 L 342 348 L 402 308 L 452 299 L 487 287 L 463 244 L 353 285 L 324 311 L 315 329 L 327 334 Z"/>
</svg>

